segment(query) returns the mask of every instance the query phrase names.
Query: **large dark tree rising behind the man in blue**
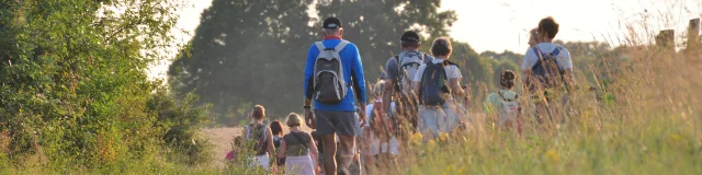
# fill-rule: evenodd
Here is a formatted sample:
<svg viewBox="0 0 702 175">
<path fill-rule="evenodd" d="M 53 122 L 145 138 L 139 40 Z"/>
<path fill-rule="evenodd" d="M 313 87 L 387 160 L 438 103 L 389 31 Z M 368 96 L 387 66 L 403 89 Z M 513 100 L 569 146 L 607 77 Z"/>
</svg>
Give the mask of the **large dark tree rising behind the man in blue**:
<svg viewBox="0 0 702 175">
<path fill-rule="evenodd" d="M 212 103 L 219 115 L 242 119 L 230 116 L 241 114 L 241 104 L 262 104 L 270 115 L 284 115 L 301 108 L 307 51 L 320 40 L 320 20 L 308 16 L 310 5 L 320 18 L 341 19 L 344 38 L 360 48 L 366 80 L 373 80 L 399 51 L 397 40 L 406 30 L 448 34 L 455 14 L 437 12 L 439 2 L 214 0 L 192 48 L 171 66 L 169 82 L 178 93 L 194 92 L 201 103 Z"/>
</svg>

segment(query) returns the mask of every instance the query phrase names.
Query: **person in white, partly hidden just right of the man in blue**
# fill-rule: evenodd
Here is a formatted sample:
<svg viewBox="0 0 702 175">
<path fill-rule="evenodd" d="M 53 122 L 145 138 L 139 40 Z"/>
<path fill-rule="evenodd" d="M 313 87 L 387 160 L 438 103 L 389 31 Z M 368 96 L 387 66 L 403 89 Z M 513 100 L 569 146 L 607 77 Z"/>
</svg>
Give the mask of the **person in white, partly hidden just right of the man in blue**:
<svg viewBox="0 0 702 175">
<path fill-rule="evenodd" d="M 383 92 L 385 91 L 385 81 L 381 80 L 373 86 L 373 95 L 375 102 L 365 107 L 367 122 L 363 127 L 363 135 L 366 139 L 363 149 L 363 160 L 367 166 L 374 165 L 376 160 L 381 158 L 395 158 L 399 155 L 399 143 L 393 131 L 394 124 L 390 118 L 382 117 L 383 113 Z M 395 110 L 395 102 L 389 102 L 390 112 Z M 366 168 L 367 170 L 367 168 Z"/>
</svg>

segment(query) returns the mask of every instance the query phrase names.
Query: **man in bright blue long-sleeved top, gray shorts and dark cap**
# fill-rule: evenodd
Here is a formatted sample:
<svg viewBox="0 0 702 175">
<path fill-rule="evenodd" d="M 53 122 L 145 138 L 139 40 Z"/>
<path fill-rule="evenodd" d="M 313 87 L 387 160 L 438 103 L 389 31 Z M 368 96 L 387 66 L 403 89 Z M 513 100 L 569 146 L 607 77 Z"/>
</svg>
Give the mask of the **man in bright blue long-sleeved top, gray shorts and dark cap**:
<svg viewBox="0 0 702 175">
<path fill-rule="evenodd" d="M 355 154 L 354 125 L 365 124 L 365 114 L 361 113 L 358 119 L 354 116 L 356 101 L 361 110 L 365 110 L 363 65 L 356 46 L 341 38 L 343 28 L 339 19 L 326 19 L 322 22 L 322 35 L 324 40 L 312 45 L 307 54 L 303 105 L 305 122 L 322 135 L 326 174 L 337 174 L 337 171 L 348 174 Z M 335 160 L 335 133 L 340 139 L 342 159 L 339 166 Z"/>
</svg>

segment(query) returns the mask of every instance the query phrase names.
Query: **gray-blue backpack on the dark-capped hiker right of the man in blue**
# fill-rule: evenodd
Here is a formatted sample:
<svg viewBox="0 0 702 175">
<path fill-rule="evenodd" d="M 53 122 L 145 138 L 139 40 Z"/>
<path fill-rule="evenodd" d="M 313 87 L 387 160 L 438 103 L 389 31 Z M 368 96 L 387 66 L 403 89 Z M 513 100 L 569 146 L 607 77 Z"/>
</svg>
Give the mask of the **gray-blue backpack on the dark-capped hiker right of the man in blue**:
<svg viewBox="0 0 702 175">
<path fill-rule="evenodd" d="M 417 69 L 427 58 L 426 54 L 419 51 L 409 51 L 404 55 L 395 56 L 397 61 L 397 90 L 401 95 L 414 93 L 412 79 L 417 74 Z"/>
</svg>

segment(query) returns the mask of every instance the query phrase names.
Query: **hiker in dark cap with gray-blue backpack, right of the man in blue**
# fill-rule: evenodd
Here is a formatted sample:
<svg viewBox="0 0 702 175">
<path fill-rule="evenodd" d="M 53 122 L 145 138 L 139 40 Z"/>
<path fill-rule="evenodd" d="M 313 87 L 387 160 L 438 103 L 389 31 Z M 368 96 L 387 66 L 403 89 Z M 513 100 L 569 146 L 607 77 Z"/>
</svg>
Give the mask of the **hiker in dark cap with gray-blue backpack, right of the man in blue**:
<svg viewBox="0 0 702 175">
<path fill-rule="evenodd" d="M 385 72 L 381 79 L 385 81 L 383 102 L 396 102 L 397 114 L 382 116 L 393 117 L 398 133 L 403 140 L 417 129 L 417 96 L 415 96 L 412 79 L 417 74 L 419 66 L 432 60 L 433 57 L 419 50 L 421 47 L 419 35 L 414 31 L 407 31 L 400 36 L 400 51 L 397 56 L 387 59 Z M 389 103 L 383 104 L 383 112 L 390 112 Z M 407 125 L 409 124 L 409 125 Z"/>
</svg>

